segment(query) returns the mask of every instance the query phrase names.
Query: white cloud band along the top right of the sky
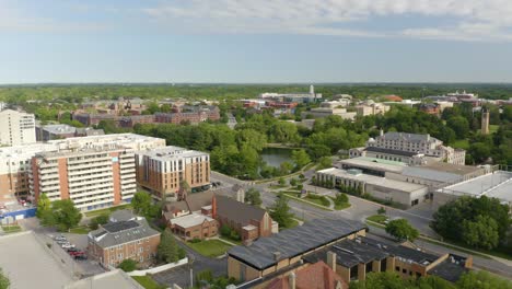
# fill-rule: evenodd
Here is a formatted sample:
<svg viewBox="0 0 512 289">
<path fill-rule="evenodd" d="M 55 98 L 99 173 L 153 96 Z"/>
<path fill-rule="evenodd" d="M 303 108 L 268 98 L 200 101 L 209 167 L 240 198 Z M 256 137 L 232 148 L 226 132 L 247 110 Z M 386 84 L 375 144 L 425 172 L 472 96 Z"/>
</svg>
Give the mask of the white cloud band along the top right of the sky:
<svg viewBox="0 0 512 289">
<path fill-rule="evenodd" d="M 512 38 L 512 0 L 171 0 L 143 11 L 175 30 L 202 33 L 287 33 L 463 41 Z M 377 16 L 415 15 L 432 19 L 432 23 L 420 28 L 407 27 L 408 23 L 404 23 L 404 28 L 386 32 L 357 28 L 358 24 Z M 450 22 L 454 24 L 440 26 L 435 19 L 452 20 Z M 408 21 L 414 22 L 414 18 L 408 18 Z"/>
</svg>

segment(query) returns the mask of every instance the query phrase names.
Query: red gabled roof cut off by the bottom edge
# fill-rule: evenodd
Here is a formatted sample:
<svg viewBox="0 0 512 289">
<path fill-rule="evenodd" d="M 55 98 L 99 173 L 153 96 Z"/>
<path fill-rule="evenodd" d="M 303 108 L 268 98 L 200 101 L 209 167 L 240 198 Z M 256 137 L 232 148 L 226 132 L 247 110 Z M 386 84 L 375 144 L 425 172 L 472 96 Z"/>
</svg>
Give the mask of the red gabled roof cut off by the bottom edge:
<svg viewBox="0 0 512 289">
<path fill-rule="evenodd" d="M 335 289 L 348 288 L 348 285 L 337 275 L 327 264 L 318 262 L 309 265 L 292 273 L 295 274 L 296 289 Z M 271 281 L 267 289 L 288 289 L 290 288 L 289 277 L 284 275 Z M 340 286 L 340 287 L 337 287 Z"/>
</svg>

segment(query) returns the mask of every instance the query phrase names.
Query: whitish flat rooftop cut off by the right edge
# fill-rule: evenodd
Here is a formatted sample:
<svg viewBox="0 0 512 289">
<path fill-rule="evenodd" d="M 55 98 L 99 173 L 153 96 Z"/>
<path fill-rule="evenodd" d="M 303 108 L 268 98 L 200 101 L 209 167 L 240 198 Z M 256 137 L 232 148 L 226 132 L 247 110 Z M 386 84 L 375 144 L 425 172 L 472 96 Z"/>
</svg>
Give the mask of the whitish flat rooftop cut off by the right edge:
<svg viewBox="0 0 512 289">
<path fill-rule="evenodd" d="M 455 185 L 440 189 L 445 194 L 487 196 L 512 203 L 512 172 L 496 171 Z"/>
</svg>

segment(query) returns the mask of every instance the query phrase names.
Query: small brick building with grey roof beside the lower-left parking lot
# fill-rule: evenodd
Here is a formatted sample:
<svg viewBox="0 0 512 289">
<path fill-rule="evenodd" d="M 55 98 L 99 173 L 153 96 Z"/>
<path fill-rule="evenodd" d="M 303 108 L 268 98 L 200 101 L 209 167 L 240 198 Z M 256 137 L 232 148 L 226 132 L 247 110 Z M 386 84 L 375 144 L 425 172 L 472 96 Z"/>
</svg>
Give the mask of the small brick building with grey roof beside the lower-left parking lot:
<svg viewBox="0 0 512 289">
<path fill-rule="evenodd" d="M 160 232 L 152 229 L 144 218 L 110 220 L 88 235 L 88 253 L 103 267 L 117 267 L 131 258 L 149 265 L 156 256 Z"/>
</svg>

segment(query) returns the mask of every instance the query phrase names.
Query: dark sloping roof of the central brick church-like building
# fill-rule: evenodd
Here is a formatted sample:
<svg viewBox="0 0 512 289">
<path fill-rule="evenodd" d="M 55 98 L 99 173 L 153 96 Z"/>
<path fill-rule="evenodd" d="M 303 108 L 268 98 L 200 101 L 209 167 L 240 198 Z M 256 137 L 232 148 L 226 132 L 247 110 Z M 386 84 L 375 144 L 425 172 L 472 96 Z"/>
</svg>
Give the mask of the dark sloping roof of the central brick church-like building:
<svg viewBox="0 0 512 289">
<path fill-rule="evenodd" d="M 216 200 L 218 216 L 233 220 L 242 226 L 249 224 L 251 220 L 261 220 L 267 212 L 261 208 L 240 203 L 226 196 L 216 196 Z"/>
</svg>

